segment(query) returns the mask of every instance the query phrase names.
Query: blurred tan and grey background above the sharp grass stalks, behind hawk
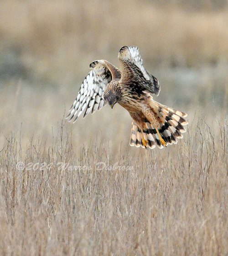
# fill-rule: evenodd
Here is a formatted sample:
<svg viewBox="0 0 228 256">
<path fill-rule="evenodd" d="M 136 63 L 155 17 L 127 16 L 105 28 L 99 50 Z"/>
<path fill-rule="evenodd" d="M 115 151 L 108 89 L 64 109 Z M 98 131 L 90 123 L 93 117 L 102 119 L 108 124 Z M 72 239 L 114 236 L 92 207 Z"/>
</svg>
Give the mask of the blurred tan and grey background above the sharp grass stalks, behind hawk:
<svg viewBox="0 0 228 256">
<path fill-rule="evenodd" d="M 136 45 L 161 84 L 156 101 L 207 122 L 226 115 L 227 0 L 7 0 L 0 2 L 0 146 L 20 134 L 52 141 L 95 59 L 119 66 Z M 130 139 L 121 107 L 80 117 L 73 143 Z M 118 138 L 117 136 L 120 136 Z M 115 142 L 114 142 L 115 143 Z M 118 147 L 118 145 L 117 145 Z"/>
</svg>

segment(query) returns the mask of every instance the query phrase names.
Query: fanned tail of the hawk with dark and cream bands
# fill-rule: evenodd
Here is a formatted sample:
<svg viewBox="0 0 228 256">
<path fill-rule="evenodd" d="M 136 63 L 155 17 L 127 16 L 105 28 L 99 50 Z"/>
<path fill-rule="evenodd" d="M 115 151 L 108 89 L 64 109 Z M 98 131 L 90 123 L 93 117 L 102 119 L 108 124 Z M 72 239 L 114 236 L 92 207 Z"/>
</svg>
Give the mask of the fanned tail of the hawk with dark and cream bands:
<svg viewBox="0 0 228 256">
<path fill-rule="evenodd" d="M 182 133 L 186 132 L 183 126 L 188 124 L 185 120 L 187 114 L 153 100 L 150 102 L 150 107 L 151 111 L 159 117 L 160 122 L 144 122 L 145 128 L 143 129 L 142 136 L 141 128 L 133 120 L 130 145 L 145 148 L 143 137 L 146 141 L 146 148 L 150 149 L 155 148 L 156 144 L 160 149 L 168 144 L 176 144 L 177 139 L 181 139 L 183 137 Z M 157 123 L 160 124 L 158 128 Z"/>
</svg>

